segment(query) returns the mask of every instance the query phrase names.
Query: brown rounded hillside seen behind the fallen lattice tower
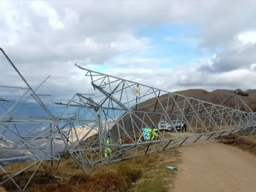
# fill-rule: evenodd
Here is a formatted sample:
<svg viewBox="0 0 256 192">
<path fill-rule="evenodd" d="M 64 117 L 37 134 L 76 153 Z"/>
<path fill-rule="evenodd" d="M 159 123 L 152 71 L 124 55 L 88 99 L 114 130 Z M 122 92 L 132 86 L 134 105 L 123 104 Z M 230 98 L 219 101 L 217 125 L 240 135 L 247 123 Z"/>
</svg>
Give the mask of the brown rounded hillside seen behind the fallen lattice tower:
<svg viewBox="0 0 256 192">
<path fill-rule="evenodd" d="M 181 90 L 181 91 L 177 91 L 174 92 L 176 94 L 180 94 L 183 96 L 189 96 L 190 98 L 195 98 L 198 100 L 202 100 L 202 101 L 206 101 L 206 102 L 210 102 L 210 103 L 214 103 L 214 104 L 221 104 L 224 100 L 226 100 L 227 98 L 230 97 L 230 95 L 232 95 L 234 93 L 234 90 L 223 90 L 223 89 L 217 89 L 211 92 L 208 92 L 206 90 L 202 90 L 202 89 L 189 89 L 189 90 Z M 256 112 L 256 90 L 248 90 L 248 93 L 251 93 L 248 97 L 243 97 L 242 99 L 244 100 L 244 102 L 253 110 L 253 112 Z M 148 114 L 148 116 L 144 116 L 144 113 L 142 112 L 164 112 L 164 110 L 162 110 L 162 106 L 170 106 L 167 109 L 167 113 L 170 114 L 168 115 L 169 118 L 171 120 L 175 120 L 177 118 L 177 115 L 174 115 L 175 111 L 178 110 L 179 108 L 183 108 L 184 106 L 184 102 L 182 102 L 184 100 L 184 98 L 182 98 L 181 96 L 177 96 L 176 98 L 176 102 L 180 102 L 180 104 L 178 104 L 178 106 L 174 106 L 174 108 L 172 108 L 172 104 L 174 104 L 173 101 L 168 100 L 168 96 L 167 94 L 163 94 L 159 97 L 159 100 L 162 104 L 159 104 L 159 102 L 156 104 L 156 97 L 155 98 L 150 98 L 144 102 L 141 102 L 137 105 L 137 111 L 135 112 L 135 115 L 132 116 L 132 119 L 130 118 L 130 116 L 125 116 L 123 118 L 123 121 L 119 121 L 118 123 L 124 128 L 124 130 L 126 130 L 126 132 L 128 132 L 128 134 L 134 134 L 134 125 L 136 124 L 138 125 L 138 128 L 141 128 L 141 126 L 145 126 L 142 125 L 142 121 L 146 122 L 147 124 L 152 125 L 152 123 L 154 123 L 155 125 L 163 118 L 161 116 L 161 114 L 156 114 L 156 113 L 152 113 L 152 114 Z M 196 101 L 192 101 L 191 103 L 192 105 L 196 104 Z M 242 104 L 242 103 L 241 103 Z M 187 102 L 185 104 L 185 106 L 189 106 L 189 103 Z M 210 105 L 209 105 L 210 106 Z M 228 102 L 226 102 L 224 104 L 224 106 L 229 107 L 229 108 L 235 108 L 235 98 L 232 97 L 230 100 L 228 100 Z M 207 104 L 206 104 L 206 107 Z M 202 109 L 202 106 L 199 107 L 199 109 Z M 197 109 L 196 109 L 197 110 Z M 240 110 L 245 110 L 245 108 L 240 105 Z M 188 108 L 186 113 L 191 113 L 193 111 L 192 108 Z M 140 118 L 140 119 L 138 119 Z M 188 117 L 189 118 L 189 117 Z M 151 120 L 150 120 L 151 119 Z M 132 121 L 134 122 L 132 124 Z M 119 128 L 120 129 L 120 128 Z M 138 129 L 136 129 L 138 130 Z M 118 129 L 117 126 L 113 126 L 112 130 L 112 135 L 113 136 L 117 136 L 118 135 Z M 136 132 L 136 131 L 135 131 Z M 121 135 L 124 135 L 124 131 L 120 131 Z"/>
</svg>

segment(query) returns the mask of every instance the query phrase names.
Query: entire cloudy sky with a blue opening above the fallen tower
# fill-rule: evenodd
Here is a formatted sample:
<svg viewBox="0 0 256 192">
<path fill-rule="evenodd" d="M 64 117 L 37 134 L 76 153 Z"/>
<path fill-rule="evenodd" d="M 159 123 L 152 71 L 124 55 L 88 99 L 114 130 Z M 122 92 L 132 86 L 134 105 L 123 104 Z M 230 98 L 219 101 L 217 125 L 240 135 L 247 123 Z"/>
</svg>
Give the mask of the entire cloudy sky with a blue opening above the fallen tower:
<svg viewBox="0 0 256 192">
<path fill-rule="evenodd" d="M 76 61 L 167 91 L 245 90 L 256 88 L 255 10 L 255 0 L 2 0 L 0 47 L 33 88 L 51 75 L 38 93 L 60 100 L 91 90 Z M 3 55 L 0 84 L 24 86 Z"/>
</svg>

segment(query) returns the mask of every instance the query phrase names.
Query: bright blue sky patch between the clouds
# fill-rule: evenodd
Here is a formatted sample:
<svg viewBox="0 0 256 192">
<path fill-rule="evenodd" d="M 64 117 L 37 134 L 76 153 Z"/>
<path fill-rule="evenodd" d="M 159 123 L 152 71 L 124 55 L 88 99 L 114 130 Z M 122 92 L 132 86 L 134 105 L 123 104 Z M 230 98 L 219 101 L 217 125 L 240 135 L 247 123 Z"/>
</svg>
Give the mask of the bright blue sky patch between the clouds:
<svg viewBox="0 0 256 192">
<path fill-rule="evenodd" d="M 152 39 L 150 49 L 127 52 L 91 69 L 104 72 L 110 68 L 145 68 L 148 65 L 156 68 L 173 68 L 190 62 L 199 62 L 201 58 L 211 58 L 214 54 L 197 46 L 197 30 L 192 27 L 166 24 L 158 28 L 144 28 L 136 34 L 136 38 L 143 37 Z"/>
</svg>

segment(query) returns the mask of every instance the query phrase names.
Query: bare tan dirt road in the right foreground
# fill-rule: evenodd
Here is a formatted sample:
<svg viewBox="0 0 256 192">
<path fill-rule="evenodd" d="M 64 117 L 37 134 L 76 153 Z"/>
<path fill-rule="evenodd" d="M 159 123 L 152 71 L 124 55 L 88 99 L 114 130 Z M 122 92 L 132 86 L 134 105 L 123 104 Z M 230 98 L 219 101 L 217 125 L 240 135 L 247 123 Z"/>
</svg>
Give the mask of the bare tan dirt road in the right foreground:
<svg viewBox="0 0 256 192">
<path fill-rule="evenodd" d="M 178 149 L 182 154 L 174 192 L 255 192 L 256 158 L 217 141 Z"/>
</svg>

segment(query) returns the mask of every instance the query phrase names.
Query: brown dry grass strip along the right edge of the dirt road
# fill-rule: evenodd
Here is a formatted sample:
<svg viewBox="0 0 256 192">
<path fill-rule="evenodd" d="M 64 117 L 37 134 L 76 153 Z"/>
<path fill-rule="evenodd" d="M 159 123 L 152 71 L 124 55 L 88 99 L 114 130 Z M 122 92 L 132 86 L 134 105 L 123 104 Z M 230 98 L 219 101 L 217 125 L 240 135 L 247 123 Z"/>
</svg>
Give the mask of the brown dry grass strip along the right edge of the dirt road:
<svg viewBox="0 0 256 192">
<path fill-rule="evenodd" d="M 240 134 L 231 134 L 219 138 L 219 142 L 231 146 L 236 146 L 256 155 L 256 134 L 242 136 Z"/>
</svg>

